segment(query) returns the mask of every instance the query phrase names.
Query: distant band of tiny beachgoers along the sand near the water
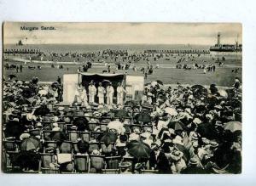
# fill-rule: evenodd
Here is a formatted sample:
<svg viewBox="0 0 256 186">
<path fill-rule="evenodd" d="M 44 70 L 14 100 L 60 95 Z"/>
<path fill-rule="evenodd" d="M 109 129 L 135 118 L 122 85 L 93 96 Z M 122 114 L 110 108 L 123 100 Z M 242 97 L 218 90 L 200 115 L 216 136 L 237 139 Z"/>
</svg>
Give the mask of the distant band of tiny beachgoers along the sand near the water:
<svg viewBox="0 0 256 186">
<path fill-rule="evenodd" d="M 114 63 L 122 64 L 137 64 L 138 62 L 145 61 L 158 61 L 158 60 L 170 60 L 175 59 L 177 63 L 188 63 L 189 61 L 204 62 L 201 57 L 207 56 L 207 58 L 212 57 L 212 54 L 201 53 L 194 54 L 183 53 L 182 50 L 175 50 L 173 53 L 166 52 L 148 52 L 148 50 L 142 50 L 141 52 L 131 52 L 127 50 L 118 49 L 105 49 L 96 52 L 53 52 L 45 51 L 35 54 L 22 54 L 18 51 L 13 51 L 5 54 L 5 58 L 8 59 L 9 56 L 20 56 L 24 59 L 38 60 L 38 61 L 60 61 L 60 62 L 90 62 L 90 63 L 103 63 L 113 61 Z M 215 59 L 214 57 L 212 57 Z M 216 58 L 216 60 L 218 60 Z"/>
</svg>

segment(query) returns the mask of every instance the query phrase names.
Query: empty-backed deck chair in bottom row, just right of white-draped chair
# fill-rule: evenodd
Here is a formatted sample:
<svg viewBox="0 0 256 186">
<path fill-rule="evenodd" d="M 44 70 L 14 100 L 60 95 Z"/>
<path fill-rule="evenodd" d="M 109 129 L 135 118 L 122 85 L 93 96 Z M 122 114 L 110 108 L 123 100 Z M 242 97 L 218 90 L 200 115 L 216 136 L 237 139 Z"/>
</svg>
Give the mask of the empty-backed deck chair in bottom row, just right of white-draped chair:
<svg viewBox="0 0 256 186">
<path fill-rule="evenodd" d="M 88 155 L 74 155 L 74 165 L 76 172 L 89 172 L 90 159 Z"/>
</svg>

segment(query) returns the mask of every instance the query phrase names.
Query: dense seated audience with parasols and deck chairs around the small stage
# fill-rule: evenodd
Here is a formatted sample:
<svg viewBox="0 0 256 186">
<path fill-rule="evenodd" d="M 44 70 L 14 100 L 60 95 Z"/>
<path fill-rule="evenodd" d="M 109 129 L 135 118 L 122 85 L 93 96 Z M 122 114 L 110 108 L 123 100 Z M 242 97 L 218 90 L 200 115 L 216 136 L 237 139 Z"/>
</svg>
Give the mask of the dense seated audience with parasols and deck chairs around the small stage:
<svg viewBox="0 0 256 186">
<path fill-rule="evenodd" d="M 240 173 L 241 85 L 145 85 L 140 102 L 61 104 L 61 82 L 3 82 L 4 172 Z"/>
</svg>

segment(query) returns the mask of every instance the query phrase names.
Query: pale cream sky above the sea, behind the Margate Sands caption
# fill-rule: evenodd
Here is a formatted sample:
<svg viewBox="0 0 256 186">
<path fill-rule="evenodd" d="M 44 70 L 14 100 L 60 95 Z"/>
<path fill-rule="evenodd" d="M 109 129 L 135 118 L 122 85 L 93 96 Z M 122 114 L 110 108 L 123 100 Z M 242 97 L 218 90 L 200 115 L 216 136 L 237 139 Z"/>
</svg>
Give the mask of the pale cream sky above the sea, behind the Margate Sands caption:
<svg viewBox="0 0 256 186">
<path fill-rule="evenodd" d="M 38 27 L 22 31 L 20 26 Z M 55 30 L 41 30 L 53 26 Z M 5 22 L 4 44 L 197 44 L 241 43 L 238 23 L 45 23 Z"/>
</svg>

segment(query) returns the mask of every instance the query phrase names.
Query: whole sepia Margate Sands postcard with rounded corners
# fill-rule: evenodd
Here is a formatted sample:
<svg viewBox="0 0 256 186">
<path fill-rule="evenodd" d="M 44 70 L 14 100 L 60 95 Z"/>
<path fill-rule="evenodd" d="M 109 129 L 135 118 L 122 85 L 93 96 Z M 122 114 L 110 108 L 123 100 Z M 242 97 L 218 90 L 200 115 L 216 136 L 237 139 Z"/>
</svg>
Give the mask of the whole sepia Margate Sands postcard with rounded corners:
<svg viewBox="0 0 256 186">
<path fill-rule="evenodd" d="M 4 22 L 2 172 L 241 174 L 241 23 Z"/>
</svg>

